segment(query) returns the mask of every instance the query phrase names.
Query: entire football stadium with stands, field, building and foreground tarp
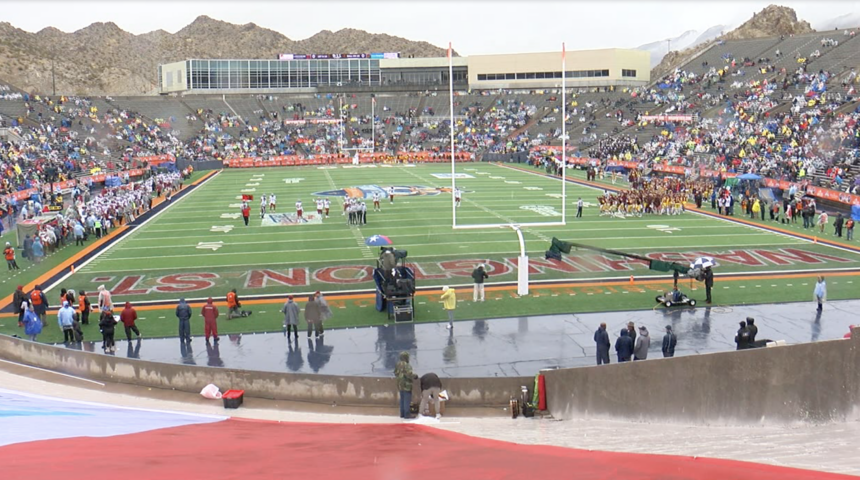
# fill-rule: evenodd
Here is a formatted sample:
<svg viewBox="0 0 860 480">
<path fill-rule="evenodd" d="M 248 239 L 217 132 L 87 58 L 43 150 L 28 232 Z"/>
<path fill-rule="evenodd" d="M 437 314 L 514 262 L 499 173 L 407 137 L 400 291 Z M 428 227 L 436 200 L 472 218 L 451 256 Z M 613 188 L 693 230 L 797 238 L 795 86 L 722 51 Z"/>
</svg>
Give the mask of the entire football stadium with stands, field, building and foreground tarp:
<svg viewBox="0 0 860 480">
<path fill-rule="evenodd" d="M 0 76 L 8 478 L 860 475 L 860 40 L 786 10 Z"/>
</svg>

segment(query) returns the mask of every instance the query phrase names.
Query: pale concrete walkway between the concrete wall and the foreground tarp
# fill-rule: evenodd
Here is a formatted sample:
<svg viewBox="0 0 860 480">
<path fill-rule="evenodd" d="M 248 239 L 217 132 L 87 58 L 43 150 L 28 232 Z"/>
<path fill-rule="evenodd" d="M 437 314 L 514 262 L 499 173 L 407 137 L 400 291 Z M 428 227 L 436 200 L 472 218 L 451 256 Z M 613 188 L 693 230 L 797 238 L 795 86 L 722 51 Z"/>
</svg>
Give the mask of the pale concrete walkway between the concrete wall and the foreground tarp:
<svg viewBox="0 0 860 480">
<path fill-rule="evenodd" d="M 106 384 L 0 362 L 0 385 L 25 393 L 144 409 L 285 422 L 398 423 L 394 408 L 345 411 L 330 406 L 296 406 L 247 399 L 238 410 L 226 411 L 220 401 L 199 395 L 146 387 Z M 296 411 L 292 408 L 314 411 Z M 328 413 L 336 412 L 336 413 Z M 385 415 L 380 415 L 384 413 Z M 441 421 L 417 420 L 430 428 L 522 444 L 558 445 L 588 450 L 715 457 L 780 466 L 860 475 L 857 439 L 860 422 L 831 425 L 746 427 L 689 426 L 609 420 L 512 420 L 506 412 L 478 418 L 447 415 Z"/>
</svg>

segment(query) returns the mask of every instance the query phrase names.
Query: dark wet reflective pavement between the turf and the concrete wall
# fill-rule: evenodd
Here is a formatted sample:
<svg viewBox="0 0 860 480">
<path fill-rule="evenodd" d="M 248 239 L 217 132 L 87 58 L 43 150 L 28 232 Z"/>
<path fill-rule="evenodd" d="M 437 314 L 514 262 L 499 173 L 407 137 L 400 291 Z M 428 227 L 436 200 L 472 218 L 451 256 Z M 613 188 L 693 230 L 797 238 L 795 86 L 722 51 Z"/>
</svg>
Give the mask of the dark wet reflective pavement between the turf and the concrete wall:
<svg viewBox="0 0 860 480">
<path fill-rule="evenodd" d="M 126 342 L 117 335 L 120 357 L 156 362 L 270 372 L 389 377 L 401 351 L 412 356 L 416 372 L 445 377 L 531 376 L 541 369 L 595 363 L 594 330 L 607 324 L 614 344 L 627 322 L 645 325 L 651 335 L 649 358 L 661 357 L 665 326 L 678 337 L 675 356 L 734 350 L 738 322 L 754 317 L 758 340 L 789 344 L 842 338 L 860 324 L 860 300 L 828 302 L 821 315 L 811 302 L 695 309 L 654 309 L 593 314 L 541 315 L 444 323 L 391 324 L 329 330 L 319 339 L 287 342 L 283 332 L 223 335 L 207 345 L 194 337 L 190 348 L 178 338 Z M 83 348 L 101 352 L 101 342 Z M 615 362 L 614 348 L 611 349 Z"/>
</svg>

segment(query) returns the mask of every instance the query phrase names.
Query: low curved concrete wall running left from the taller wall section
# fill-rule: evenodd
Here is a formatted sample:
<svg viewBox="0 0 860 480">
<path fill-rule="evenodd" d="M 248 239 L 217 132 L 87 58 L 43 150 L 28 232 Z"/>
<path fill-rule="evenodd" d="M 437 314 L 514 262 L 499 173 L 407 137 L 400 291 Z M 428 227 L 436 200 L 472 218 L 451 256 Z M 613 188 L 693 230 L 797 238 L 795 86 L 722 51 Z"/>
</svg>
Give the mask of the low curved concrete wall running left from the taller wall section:
<svg viewBox="0 0 860 480">
<path fill-rule="evenodd" d="M 70 350 L 5 335 L 0 335 L 0 358 L 91 380 L 193 393 L 199 393 L 207 384 L 214 383 L 221 391 L 245 390 L 245 395 L 249 397 L 321 404 L 397 406 L 394 378 L 302 375 L 173 365 Z M 511 396 L 519 395 L 520 386 L 532 385 L 534 379 L 459 378 L 443 379 L 442 382 L 448 390 L 452 407 L 495 407 L 508 405 Z"/>
</svg>

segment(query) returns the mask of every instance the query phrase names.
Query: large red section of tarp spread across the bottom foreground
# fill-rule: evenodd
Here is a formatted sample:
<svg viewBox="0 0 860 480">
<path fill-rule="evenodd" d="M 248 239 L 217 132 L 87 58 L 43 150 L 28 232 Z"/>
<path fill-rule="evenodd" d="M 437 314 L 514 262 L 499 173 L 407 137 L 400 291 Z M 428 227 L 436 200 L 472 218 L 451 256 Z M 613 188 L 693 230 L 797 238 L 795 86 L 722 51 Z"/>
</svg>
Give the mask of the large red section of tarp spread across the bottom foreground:
<svg viewBox="0 0 860 480">
<path fill-rule="evenodd" d="M 0 466 L 2 478 L 28 480 L 856 478 L 730 460 L 518 445 L 420 425 L 236 419 L 13 444 L 0 447 Z"/>
</svg>

